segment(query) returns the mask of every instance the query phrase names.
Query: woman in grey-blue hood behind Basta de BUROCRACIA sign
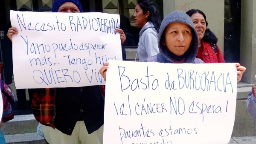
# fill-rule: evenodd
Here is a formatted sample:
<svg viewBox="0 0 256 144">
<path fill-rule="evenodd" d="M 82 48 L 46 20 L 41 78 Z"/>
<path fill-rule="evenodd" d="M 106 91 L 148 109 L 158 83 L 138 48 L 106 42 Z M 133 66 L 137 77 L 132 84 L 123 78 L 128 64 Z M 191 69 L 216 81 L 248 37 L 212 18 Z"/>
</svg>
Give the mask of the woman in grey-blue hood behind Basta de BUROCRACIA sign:
<svg viewBox="0 0 256 144">
<path fill-rule="evenodd" d="M 157 62 L 204 63 L 196 58 L 198 35 L 191 18 L 184 12 L 175 11 L 162 21 L 158 33 Z"/>
</svg>

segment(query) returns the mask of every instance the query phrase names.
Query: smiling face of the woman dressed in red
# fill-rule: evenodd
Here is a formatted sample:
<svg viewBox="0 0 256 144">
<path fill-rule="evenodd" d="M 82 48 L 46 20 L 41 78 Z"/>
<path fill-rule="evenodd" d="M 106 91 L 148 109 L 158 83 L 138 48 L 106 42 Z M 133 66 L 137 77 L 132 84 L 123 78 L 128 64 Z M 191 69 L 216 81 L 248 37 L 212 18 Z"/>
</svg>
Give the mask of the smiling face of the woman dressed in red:
<svg viewBox="0 0 256 144">
<path fill-rule="evenodd" d="M 204 32 L 206 30 L 206 21 L 204 16 L 199 13 L 195 13 L 190 17 L 194 23 L 195 30 L 198 33 L 199 41 L 204 37 Z"/>
</svg>

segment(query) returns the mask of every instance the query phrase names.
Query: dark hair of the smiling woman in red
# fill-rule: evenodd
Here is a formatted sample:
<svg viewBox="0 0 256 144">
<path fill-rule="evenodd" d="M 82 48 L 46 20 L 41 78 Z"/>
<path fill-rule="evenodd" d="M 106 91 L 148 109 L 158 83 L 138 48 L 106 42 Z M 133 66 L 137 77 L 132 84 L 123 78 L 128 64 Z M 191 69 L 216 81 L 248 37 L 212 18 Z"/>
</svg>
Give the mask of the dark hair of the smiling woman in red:
<svg viewBox="0 0 256 144">
<path fill-rule="evenodd" d="M 199 13 L 199 14 L 203 15 L 205 23 L 206 23 L 206 27 L 207 27 L 208 22 L 206 20 L 206 16 L 205 16 L 204 12 L 202 12 L 199 9 L 190 9 L 189 11 L 186 12 L 186 14 L 189 15 L 189 17 L 191 17 L 195 13 Z M 216 44 L 218 42 L 218 38 L 214 35 L 214 33 L 212 31 L 210 31 L 210 29 L 205 30 L 204 37 L 202 38 L 202 40 L 207 41 L 208 43 L 214 43 L 214 44 Z"/>
</svg>

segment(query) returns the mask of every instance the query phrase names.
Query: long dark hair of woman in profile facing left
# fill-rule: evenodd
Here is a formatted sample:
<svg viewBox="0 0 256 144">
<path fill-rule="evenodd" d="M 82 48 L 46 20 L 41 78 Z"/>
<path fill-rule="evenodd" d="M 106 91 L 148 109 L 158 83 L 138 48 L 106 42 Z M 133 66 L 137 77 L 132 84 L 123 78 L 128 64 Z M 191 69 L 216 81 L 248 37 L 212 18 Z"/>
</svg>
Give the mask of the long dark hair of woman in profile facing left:
<svg viewBox="0 0 256 144">
<path fill-rule="evenodd" d="M 151 0 L 137 0 L 137 4 L 143 10 L 143 14 L 146 14 L 146 12 L 149 12 L 147 21 L 150 21 L 151 23 L 153 23 L 155 29 L 157 30 L 157 32 L 159 32 L 162 18 L 160 16 L 160 12 L 157 4 L 155 4 Z"/>
</svg>

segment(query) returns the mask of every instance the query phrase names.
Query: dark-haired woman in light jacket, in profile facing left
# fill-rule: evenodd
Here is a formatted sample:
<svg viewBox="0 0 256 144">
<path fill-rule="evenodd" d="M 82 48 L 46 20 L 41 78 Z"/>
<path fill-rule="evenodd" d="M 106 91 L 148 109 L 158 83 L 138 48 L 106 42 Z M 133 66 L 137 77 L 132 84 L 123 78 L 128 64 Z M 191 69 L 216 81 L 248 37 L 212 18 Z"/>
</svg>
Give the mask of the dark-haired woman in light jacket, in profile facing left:
<svg viewBox="0 0 256 144">
<path fill-rule="evenodd" d="M 151 0 L 137 0 L 134 11 L 135 25 L 140 26 L 140 39 L 137 55 L 140 61 L 146 61 L 159 53 L 157 38 L 161 25 L 158 6 Z"/>
</svg>

